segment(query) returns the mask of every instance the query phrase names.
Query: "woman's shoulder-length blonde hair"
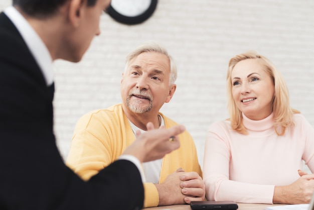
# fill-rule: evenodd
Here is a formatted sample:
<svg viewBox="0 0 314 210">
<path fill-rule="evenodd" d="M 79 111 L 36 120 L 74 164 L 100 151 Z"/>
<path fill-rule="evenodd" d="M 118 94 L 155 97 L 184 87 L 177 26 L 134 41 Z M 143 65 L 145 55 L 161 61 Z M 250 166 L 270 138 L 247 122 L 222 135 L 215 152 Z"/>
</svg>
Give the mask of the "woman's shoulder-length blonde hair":
<svg viewBox="0 0 314 210">
<path fill-rule="evenodd" d="M 274 64 L 266 57 L 258 55 L 256 52 L 253 51 L 236 55 L 229 61 L 229 67 L 227 71 L 227 97 L 231 127 L 241 134 L 247 134 L 247 130 L 242 123 L 242 113 L 236 107 L 235 100 L 232 96 L 231 78 L 231 73 L 234 66 L 238 62 L 245 59 L 256 59 L 263 66 L 263 69 L 270 76 L 274 84 L 275 95 L 272 101 L 272 112 L 275 119 L 274 127 L 277 135 L 282 136 L 284 135 L 288 127 L 295 125 L 293 120 L 293 114 L 300 112 L 290 107 L 288 88 L 282 75 L 276 69 Z"/>
</svg>

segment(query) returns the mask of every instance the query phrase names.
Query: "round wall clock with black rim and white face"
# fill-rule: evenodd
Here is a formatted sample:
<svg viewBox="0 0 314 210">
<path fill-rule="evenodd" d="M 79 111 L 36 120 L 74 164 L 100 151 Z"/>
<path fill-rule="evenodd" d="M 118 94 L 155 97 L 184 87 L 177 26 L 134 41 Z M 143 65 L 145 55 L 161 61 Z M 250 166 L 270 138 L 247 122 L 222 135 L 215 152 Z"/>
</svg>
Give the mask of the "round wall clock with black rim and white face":
<svg viewBox="0 0 314 210">
<path fill-rule="evenodd" d="M 111 0 L 106 12 L 114 20 L 127 24 L 140 24 L 155 11 L 158 0 Z"/>
</svg>

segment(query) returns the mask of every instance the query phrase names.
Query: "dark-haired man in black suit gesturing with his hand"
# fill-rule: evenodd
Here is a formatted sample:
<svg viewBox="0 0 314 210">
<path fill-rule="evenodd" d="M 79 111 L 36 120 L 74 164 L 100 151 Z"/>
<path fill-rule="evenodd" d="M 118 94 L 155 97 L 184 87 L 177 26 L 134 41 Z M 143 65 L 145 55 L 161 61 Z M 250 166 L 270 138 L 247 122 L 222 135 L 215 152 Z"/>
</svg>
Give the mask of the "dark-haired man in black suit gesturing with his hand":
<svg viewBox="0 0 314 210">
<path fill-rule="evenodd" d="M 140 163 L 177 149 L 185 128 L 137 133 L 88 182 L 67 168 L 53 134 L 52 62 L 78 62 L 110 0 L 14 0 L 0 14 L 0 209 L 140 209 Z"/>
</svg>

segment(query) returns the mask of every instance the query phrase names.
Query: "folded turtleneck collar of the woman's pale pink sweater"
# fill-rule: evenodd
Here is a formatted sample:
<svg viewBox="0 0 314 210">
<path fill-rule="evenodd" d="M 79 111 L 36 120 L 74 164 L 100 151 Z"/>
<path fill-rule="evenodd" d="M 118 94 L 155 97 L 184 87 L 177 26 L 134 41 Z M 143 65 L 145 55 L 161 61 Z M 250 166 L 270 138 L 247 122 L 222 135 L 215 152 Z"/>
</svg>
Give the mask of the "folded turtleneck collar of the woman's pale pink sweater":
<svg viewBox="0 0 314 210">
<path fill-rule="evenodd" d="M 267 129 L 270 129 L 274 126 L 274 114 L 271 113 L 267 118 L 264 118 L 263 120 L 251 120 L 247 118 L 242 113 L 242 122 L 246 129 L 251 131 L 265 131 Z"/>
</svg>

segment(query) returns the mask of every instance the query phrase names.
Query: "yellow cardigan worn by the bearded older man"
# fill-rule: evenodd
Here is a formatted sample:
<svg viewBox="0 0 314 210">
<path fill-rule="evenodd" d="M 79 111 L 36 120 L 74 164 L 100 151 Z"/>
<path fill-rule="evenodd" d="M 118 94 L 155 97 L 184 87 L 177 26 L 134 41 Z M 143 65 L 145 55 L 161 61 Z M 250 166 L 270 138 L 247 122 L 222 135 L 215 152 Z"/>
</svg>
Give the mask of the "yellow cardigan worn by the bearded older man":
<svg viewBox="0 0 314 210">
<path fill-rule="evenodd" d="M 177 125 L 163 114 L 160 115 L 165 120 L 166 128 Z M 180 148 L 163 159 L 159 183 L 180 167 L 187 172 L 196 171 L 202 176 L 191 135 L 185 131 L 179 135 L 179 139 Z M 134 140 L 135 136 L 121 104 L 92 111 L 77 122 L 66 163 L 82 179 L 88 180 L 115 161 Z M 158 205 L 159 195 L 153 183 L 144 183 L 144 195 L 144 207 Z"/>
</svg>

